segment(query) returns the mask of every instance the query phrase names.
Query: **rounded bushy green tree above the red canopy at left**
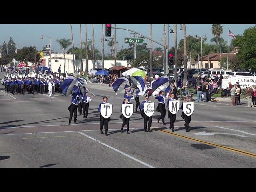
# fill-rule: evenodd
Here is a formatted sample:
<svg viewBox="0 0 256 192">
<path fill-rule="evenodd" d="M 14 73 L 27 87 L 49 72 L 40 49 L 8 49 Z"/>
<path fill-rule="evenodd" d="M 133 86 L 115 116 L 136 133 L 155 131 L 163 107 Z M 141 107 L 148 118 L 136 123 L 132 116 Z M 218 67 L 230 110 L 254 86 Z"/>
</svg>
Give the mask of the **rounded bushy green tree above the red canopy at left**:
<svg viewBox="0 0 256 192">
<path fill-rule="evenodd" d="M 19 49 L 17 54 L 14 54 L 12 58 L 26 64 L 28 64 L 28 62 L 36 64 L 40 60 L 40 54 L 38 54 L 34 46 L 30 46 Z"/>
</svg>

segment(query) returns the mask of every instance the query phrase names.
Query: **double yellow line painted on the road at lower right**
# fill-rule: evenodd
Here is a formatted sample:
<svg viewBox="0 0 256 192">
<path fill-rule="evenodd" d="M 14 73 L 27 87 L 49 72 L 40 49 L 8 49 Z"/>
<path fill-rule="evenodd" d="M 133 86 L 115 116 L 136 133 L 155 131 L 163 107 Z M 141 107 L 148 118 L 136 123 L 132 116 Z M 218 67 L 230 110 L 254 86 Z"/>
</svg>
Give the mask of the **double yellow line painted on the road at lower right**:
<svg viewBox="0 0 256 192">
<path fill-rule="evenodd" d="M 160 128 L 160 127 L 152 127 L 152 128 Z M 239 150 L 239 149 L 236 149 L 236 148 L 226 147 L 226 146 L 222 146 L 222 145 L 219 145 L 219 144 L 214 144 L 214 143 L 202 141 L 202 140 L 199 140 L 199 139 L 195 139 L 195 138 L 191 138 L 191 137 L 188 137 L 188 136 L 176 134 L 176 133 L 173 133 L 173 132 L 168 132 L 168 131 L 165 131 L 165 130 L 159 130 L 159 131 L 162 131 L 162 132 L 165 132 L 165 133 L 168 133 L 168 134 L 172 134 L 172 135 L 178 136 L 180 138 L 185 138 L 185 139 L 188 139 L 188 140 L 201 142 L 201 143 L 204 143 L 204 144 L 207 144 L 207 145 L 210 145 L 210 146 L 215 146 L 215 147 L 218 147 L 218 148 L 221 148 L 221 149 L 224 149 L 224 150 L 229 150 L 229 151 L 236 152 L 236 153 L 239 153 L 239 154 L 242 154 L 242 155 L 247 155 L 247 156 L 256 158 L 256 154 L 250 153 L 250 152 L 247 152 L 247 151 L 243 151 L 243 150 Z"/>
</svg>

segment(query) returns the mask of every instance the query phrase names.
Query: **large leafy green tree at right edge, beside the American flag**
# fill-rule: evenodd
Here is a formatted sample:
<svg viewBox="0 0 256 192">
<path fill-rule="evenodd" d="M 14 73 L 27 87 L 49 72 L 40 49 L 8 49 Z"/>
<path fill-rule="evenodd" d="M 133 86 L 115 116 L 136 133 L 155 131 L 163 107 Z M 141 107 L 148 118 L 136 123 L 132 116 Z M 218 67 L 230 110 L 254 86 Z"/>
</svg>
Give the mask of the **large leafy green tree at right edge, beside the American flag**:
<svg viewBox="0 0 256 192">
<path fill-rule="evenodd" d="M 247 28 L 243 35 L 236 36 L 234 44 L 238 46 L 238 58 L 242 67 L 256 70 L 256 26 Z"/>
</svg>

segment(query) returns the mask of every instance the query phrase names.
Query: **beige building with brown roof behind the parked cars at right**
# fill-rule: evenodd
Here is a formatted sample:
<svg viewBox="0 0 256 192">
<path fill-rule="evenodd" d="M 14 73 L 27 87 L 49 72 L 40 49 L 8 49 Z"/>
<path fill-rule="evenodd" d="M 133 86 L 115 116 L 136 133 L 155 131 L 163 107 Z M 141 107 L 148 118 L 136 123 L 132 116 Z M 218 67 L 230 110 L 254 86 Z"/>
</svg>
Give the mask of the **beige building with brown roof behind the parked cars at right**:
<svg viewBox="0 0 256 192">
<path fill-rule="evenodd" d="M 218 69 L 220 68 L 220 60 L 223 57 L 234 57 L 236 52 L 232 52 L 232 53 L 211 53 L 209 54 L 209 66 L 208 66 L 208 55 L 202 56 L 202 64 L 203 64 L 203 69 Z M 201 68 L 200 67 L 200 61 L 201 58 L 199 57 L 199 62 L 197 60 L 195 60 L 196 64 L 192 64 L 191 68 Z"/>
</svg>

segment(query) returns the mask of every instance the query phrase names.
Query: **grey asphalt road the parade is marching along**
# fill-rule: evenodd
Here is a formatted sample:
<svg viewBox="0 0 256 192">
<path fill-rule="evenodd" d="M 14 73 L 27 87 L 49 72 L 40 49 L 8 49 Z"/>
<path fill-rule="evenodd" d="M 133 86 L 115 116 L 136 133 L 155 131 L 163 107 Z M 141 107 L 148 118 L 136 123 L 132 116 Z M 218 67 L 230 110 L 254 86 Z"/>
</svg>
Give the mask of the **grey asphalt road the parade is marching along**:
<svg viewBox="0 0 256 192">
<path fill-rule="evenodd" d="M 185 132 L 181 111 L 176 114 L 174 133 L 169 124 L 157 123 L 160 112 L 153 115 L 152 132 L 145 133 L 140 113 L 134 112 L 131 133 L 126 134 L 126 130 L 120 133 L 123 95 L 115 95 L 106 85 L 89 83 L 88 88 L 95 95 L 88 118 L 78 116 L 77 124 L 68 125 L 71 97 L 10 95 L 1 85 L 0 167 L 256 167 L 256 108 L 247 108 L 246 100 L 234 107 L 225 101 L 195 103 L 189 132 Z M 108 136 L 99 130 L 97 109 L 102 96 L 114 105 Z M 150 100 L 157 106 L 157 100 Z"/>
</svg>

